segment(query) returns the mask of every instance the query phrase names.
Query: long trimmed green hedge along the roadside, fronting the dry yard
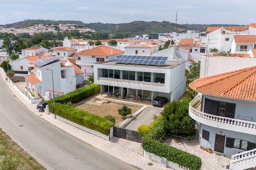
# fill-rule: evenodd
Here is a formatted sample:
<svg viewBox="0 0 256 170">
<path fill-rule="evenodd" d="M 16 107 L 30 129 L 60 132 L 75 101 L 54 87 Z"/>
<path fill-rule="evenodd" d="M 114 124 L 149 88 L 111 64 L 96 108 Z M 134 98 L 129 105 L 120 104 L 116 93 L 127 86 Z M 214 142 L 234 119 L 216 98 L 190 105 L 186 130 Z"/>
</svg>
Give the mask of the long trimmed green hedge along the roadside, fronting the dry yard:
<svg viewBox="0 0 256 170">
<path fill-rule="evenodd" d="M 109 134 L 109 129 L 114 126 L 114 123 L 107 121 L 105 118 L 81 111 L 68 105 L 55 103 L 55 114 L 66 118 L 71 122 L 85 126 L 86 128 L 98 131 L 102 134 Z M 49 110 L 53 113 L 53 103 L 49 104 Z"/>
</svg>

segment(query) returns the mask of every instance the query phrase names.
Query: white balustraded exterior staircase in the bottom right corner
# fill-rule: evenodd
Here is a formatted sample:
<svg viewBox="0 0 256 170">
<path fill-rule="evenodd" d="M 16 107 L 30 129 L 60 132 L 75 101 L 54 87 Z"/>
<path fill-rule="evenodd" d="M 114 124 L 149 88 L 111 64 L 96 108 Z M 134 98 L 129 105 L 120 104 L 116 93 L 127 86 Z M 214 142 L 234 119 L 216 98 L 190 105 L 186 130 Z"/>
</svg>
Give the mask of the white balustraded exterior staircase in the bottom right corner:
<svg viewBox="0 0 256 170">
<path fill-rule="evenodd" d="M 256 167 L 256 149 L 232 155 L 229 164 L 230 170 L 241 170 Z"/>
</svg>

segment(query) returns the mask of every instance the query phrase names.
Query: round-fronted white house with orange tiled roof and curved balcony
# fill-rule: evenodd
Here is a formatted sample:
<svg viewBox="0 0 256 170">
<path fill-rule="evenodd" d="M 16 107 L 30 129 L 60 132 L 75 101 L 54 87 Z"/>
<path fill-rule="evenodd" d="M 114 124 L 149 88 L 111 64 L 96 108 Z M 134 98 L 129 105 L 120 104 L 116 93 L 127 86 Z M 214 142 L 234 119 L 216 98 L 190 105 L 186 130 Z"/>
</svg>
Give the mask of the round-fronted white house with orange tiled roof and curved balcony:
<svg viewBox="0 0 256 170">
<path fill-rule="evenodd" d="M 254 64 L 189 84 L 198 92 L 189 115 L 199 124 L 199 145 L 231 157 L 229 169 L 256 166 L 255 78 Z"/>
</svg>

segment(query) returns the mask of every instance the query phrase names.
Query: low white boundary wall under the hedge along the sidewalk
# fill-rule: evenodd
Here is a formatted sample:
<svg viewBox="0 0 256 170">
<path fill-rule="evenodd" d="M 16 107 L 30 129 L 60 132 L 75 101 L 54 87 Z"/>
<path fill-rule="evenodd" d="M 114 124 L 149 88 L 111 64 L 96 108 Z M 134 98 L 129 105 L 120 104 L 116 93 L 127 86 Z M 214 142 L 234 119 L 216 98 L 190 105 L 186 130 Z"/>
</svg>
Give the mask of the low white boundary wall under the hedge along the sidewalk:
<svg viewBox="0 0 256 170">
<path fill-rule="evenodd" d="M 51 115 L 52 115 L 52 117 L 54 117 L 54 114 L 51 113 Z M 102 138 L 102 139 L 110 140 L 110 139 L 113 137 L 113 126 L 110 128 L 109 135 L 105 135 L 105 134 L 102 134 L 102 133 L 100 133 L 100 132 L 98 132 L 98 131 L 94 131 L 94 130 L 92 130 L 92 129 L 85 128 L 84 126 L 81 126 L 81 125 L 79 125 L 79 124 L 76 124 L 76 123 L 74 123 L 74 122 L 71 122 L 71 121 L 69 121 L 69 120 L 66 120 L 66 118 L 60 117 L 60 116 L 58 116 L 58 115 L 56 115 L 56 117 L 57 117 L 58 120 L 60 120 L 60 121 L 62 121 L 62 122 L 65 122 L 65 123 L 67 123 L 67 124 L 70 124 L 70 125 L 72 125 L 72 126 L 75 126 L 76 128 L 81 129 L 81 130 L 83 130 L 83 131 L 85 131 L 85 132 L 88 132 L 88 133 L 97 135 L 97 137 L 100 137 L 100 138 Z"/>
</svg>

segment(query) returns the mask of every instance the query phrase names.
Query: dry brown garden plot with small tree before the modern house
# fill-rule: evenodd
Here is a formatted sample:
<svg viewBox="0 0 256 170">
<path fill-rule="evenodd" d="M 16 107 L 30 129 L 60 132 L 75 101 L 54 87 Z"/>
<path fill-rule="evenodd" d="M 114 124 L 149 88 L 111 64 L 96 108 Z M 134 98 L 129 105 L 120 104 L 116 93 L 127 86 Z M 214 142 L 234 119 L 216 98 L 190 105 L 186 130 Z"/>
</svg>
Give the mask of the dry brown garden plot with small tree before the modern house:
<svg viewBox="0 0 256 170">
<path fill-rule="evenodd" d="M 118 103 L 114 103 L 114 102 L 106 101 L 106 100 L 92 99 L 90 101 L 81 101 L 75 107 L 79 108 L 83 111 L 87 111 L 87 112 L 90 112 L 92 114 L 99 115 L 102 117 L 104 117 L 106 115 L 111 115 L 111 116 L 115 117 L 116 125 L 118 125 L 125 119 L 125 118 L 123 119 L 122 116 L 119 115 L 118 111 L 117 111 L 117 109 L 121 108 L 123 105 L 124 104 L 118 104 Z M 132 108 L 132 114 L 141 108 L 141 107 L 132 106 L 132 105 L 126 105 L 126 106 Z M 128 115 L 127 117 L 129 117 L 131 115 Z"/>
</svg>

